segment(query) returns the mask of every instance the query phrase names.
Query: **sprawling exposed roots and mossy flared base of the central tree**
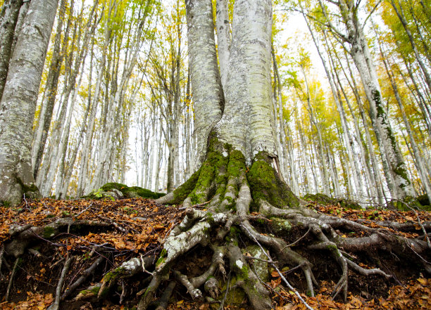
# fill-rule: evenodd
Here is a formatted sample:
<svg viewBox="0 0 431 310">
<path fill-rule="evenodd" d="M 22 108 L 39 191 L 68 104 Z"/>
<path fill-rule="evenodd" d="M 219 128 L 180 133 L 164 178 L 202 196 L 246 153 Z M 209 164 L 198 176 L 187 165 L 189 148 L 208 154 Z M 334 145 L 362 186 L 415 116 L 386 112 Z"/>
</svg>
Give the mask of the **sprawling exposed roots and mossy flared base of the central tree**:
<svg viewBox="0 0 431 310">
<path fill-rule="evenodd" d="M 213 302 L 220 302 L 220 308 L 223 308 L 227 296 L 234 293 L 228 293 L 230 283 L 233 283 L 232 286 L 245 294 L 254 309 L 266 310 L 273 307 L 270 289 L 266 285 L 270 266 L 276 271 L 275 275 L 280 276 L 281 285 L 293 291 L 307 309 L 312 309 L 294 286 L 300 285 L 308 295 L 315 296 L 318 287 L 315 275 L 319 280 L 321 277 L 320 261 L 339 270 L 332 296 L 341 296 L 344 300 L 349 285 L 355 285 L 352 281 L 349 283 L 349 271 L 359 276 L 392 278 L 385 272 L 386 269 L 364 268 L 361 264 L 364 255 L 370 264 L 370 261 L 377 261 L 377 252 L 387 252 L 400 260 L 420 264 L 431 273 L 426 238 L 431 225 L 429 222 L 420 221 L 424 233 L 423 240 L 420 240 L 405 238 L 387 229 L 411 231 L 415 228 L 414 223 L 375 222 L 379 225 L 375 228 L 367 226 L 365 221 L 319 214 L 283 192 L 288 188 L 274 169 L 272 157 L 258 155 L 256 162 L 246 167 L 244 157 L 227 146 L 214 146 L 212 152 L 189 181 L 158 200 L 164 204 L 183 202 L 182 209 L 185 208 L 185 217 L 165 237 L 163 250 L 156 250 L 158 257 L 149 252 L 146 257 L 139 252 L 127 252 L 125 261 L 111 268 L 103 278 L 97 278 L 95 282 L 99 283 L 89 285 L 89 276 L 97 273 L 102 261 L 111 262 L 113 255 L 111 258 L 105 254 L 94 257 L 91 262 L 82 265 L 77 280 L 70 280 L 71 284 L 63 295 L 57 290 L 56 299 L 67 299 L 75 290 L 80 290 L 75 299 L 103 300 L 113 295 L 112 292 L 120 284 L 120 302 L 127 296 L 135 296 L 138 310 L 149 306 L 166 309 L 175 290 L 185 289 L 192 299 L 211 298 Z M 65 227 L 79 224 L 110 226 L 123 235 L 132 233 L 129 228 L 120 226 L 118 221 L 105 217 L 100 219 L 90 223 L 61 218 L 40 227 L 14 227 L 11 230 L 13 239 L 2 247 L 4 255 L 20 257 L 31 242 L 56 238 L 61 231 L 65 231 Z M 350 232 L 361 236 L 353 238 Z M 259 254 L 253 254 L 249 250 L 251 247 L 258 248 Z M 193 257 L 198 257 L 199 264 L 204 264 L 202 270 L 192 270 L 194 264 L 198 264 L 192 261 Z M 6 264 L 0 252 L 0 271 L 2 261 Z M 18 259 L 13 269 L 17 264 Z M 291 269 L 288 273 L 282 273 L 280 270 L 287 266 Z M 296 273 L 300 280 L 294 278 L 295 273 L 289 273 L 296 269 L 301 270 L 301 273 Z M 65 273 L 65 268 L 63 271 Z M 13 275 L 9 278 L 10 282 L 12 278 Z M 139 280 L 142 281 L 139 283 Z M 131 281 L 135 284 L 129 285 Z M 82 290 L 82 287 L 85 289 Z M 137 290 L 141 291 L 136 294 Z"/>
</svg>

